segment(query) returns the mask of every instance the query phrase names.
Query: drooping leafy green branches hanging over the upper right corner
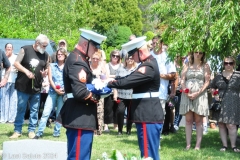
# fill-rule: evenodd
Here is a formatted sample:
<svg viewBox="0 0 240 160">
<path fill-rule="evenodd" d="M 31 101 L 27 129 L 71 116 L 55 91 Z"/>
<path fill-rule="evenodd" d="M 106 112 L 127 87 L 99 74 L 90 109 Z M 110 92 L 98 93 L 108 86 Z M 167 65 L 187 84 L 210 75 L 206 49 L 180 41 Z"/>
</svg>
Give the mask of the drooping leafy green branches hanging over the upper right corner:
<svg viewBox="0 0 240 160">
<path fill-rule="evenodd" d="M 159 0 L 152 14 L 165 27 L 162 37 L 172 57 L 201 50 L 216 62 L 239 52 L 238 0 Z"/>
</svg>

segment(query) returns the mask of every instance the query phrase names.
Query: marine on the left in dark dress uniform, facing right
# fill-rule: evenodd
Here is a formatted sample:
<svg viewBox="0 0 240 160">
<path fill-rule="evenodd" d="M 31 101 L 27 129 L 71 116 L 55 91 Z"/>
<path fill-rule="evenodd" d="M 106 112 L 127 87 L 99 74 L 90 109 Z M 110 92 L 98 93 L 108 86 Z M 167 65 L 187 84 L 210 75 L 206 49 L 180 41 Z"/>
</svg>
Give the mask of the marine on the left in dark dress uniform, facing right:
<svg viewBox="0 0 240 160">
<path fill-rule="evenodd" d="M 93 77 L 88 57 L 107 38 L 93 31 L 80 30 L 80 40 L 65 62 L 63 82 L 67 100 L 57 118 L 67 130 L 68 160 L 91 159 L 93 133 L 98 126 L 97 102 L 100 96 L 88 91 L 86 87 Z"/>
</svg>

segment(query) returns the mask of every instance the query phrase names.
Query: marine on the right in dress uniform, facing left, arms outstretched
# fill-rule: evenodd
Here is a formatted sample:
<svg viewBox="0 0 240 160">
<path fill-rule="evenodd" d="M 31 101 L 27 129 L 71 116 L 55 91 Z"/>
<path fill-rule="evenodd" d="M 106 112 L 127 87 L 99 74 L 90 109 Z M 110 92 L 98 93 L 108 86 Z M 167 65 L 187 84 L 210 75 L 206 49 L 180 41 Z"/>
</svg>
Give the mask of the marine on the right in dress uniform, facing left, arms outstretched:
<svg viewBox="0 0 240 160">
<path fill-rule="evenodd" d="M 129 76 L 109 82 L 108 87 L 133 89 L 131 117 L 137 127 L 141 156 L 159 160 L 160 134 L 164 120 L 158 98 L 160 76 L 157 61 L 149 53 L 145 39 L 145 36 L 135 38 L 122 45 L 122 49 L 141 64 Z"/>
</svg>

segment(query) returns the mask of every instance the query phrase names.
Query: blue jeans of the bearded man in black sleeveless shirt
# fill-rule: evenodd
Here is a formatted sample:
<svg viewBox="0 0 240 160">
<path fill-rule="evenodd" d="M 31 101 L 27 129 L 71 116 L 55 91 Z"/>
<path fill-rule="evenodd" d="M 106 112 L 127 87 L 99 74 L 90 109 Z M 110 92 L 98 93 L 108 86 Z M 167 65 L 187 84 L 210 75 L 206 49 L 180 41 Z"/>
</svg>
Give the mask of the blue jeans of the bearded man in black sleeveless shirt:
<svg viewBox="0 0 240 160">
<path fill-rule="evenodd" d="M 18 103 L 17 103 L 17 115 L 14 122 L 14 132 L 22 133 L 22 125 L 24 122 L 24 115 L 27 108 L 27 103 L 30 104 L 30 117 L 28 132 L 34 132 L 38 121 L 38 108 L 40 103 L 40 93 L 28 94 L 17 91 Z"/>
</svg>

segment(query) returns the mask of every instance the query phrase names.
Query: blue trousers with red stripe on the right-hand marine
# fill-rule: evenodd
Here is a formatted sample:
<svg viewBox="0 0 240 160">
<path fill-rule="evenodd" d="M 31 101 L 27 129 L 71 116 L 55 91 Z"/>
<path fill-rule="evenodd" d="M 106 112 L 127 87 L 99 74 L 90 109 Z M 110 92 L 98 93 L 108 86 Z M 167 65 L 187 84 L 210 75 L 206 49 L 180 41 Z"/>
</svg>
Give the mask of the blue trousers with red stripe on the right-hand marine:
<svg viewBox="0 0 240 160">
<path fill-rule="evenodd" d="M 136 123 L 141 157 L 160 160 L 159 145 L 162 126 L 163 124 L 159 123 Z"/>
</svg>

